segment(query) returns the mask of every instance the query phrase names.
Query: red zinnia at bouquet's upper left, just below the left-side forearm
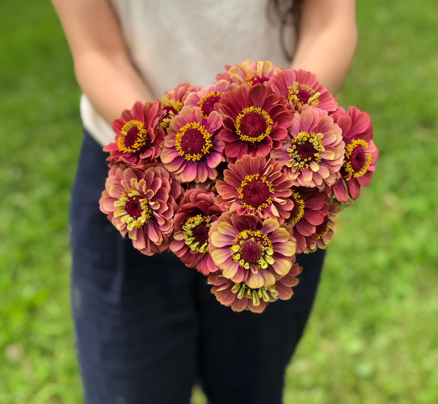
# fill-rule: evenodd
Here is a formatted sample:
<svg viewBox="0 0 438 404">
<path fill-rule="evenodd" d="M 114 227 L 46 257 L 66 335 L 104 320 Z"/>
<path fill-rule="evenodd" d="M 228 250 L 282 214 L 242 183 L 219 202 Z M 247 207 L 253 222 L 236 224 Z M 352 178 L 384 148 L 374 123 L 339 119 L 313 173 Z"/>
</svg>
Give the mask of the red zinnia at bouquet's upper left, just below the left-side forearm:
<svg viewBox="0 0 438 404">
<path fill-rule="evenodd" d="M 158 100 L 145 105 L 138 101 L 132 110 L 124 110 L 122 116 L 113 122 L 114 143 L 103 148 L 110 153 L 108 160 L 140 166 L 156 159 L 164 138 L 160 127 L 164 115 Z"/>
</svg>

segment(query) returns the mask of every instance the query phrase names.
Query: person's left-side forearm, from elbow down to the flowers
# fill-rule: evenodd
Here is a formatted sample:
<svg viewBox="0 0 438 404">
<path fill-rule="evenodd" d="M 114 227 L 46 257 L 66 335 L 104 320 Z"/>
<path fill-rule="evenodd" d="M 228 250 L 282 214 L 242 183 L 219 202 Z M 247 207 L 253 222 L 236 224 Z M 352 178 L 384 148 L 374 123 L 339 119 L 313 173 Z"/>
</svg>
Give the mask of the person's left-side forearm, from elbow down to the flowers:
<svg viewBox="0 0 438 404">
<path fill-rule="evenodd" d="M 90 50 L 74 60 L 81 90 L 102 117 L 111 124 L 136 101 L 152 101 L 152 94 L 129 60 Z"/>
</svg>

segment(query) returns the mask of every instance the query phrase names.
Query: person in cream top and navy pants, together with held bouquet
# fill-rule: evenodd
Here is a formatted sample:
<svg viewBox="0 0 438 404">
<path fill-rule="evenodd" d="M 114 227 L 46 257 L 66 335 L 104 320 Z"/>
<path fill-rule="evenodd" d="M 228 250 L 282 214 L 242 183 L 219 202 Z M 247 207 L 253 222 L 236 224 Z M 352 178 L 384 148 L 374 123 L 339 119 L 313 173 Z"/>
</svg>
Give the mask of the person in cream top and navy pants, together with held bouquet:
<svg viewBox="0 0 438 404">
<path fill-rule="evenodd" d="M 70 221 L 86 402 L 189 403 L 196 382 L 211 404 L 280 403 L 333 192 L 357 198 L 378 154 L 332 96 L 354 0 L 52 1 L 83 91 Z"/>
</svg>

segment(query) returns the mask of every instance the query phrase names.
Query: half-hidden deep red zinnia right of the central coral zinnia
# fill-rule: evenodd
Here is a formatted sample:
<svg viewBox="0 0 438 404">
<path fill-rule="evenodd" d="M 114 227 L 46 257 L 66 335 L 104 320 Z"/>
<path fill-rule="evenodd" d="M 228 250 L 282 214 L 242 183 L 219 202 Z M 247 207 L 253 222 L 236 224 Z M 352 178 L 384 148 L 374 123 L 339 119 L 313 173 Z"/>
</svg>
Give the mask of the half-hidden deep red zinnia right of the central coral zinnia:
<svg viewBox="0 0 438 404">
<path fill-rule="evenodd" d="M 325 202 L 327 194 L 318 188 L 293 188 L 290 198 L 293 209 L 286 224 L 293 229 L 299 254 L 316 241 L 316 227 L 324 222 L 329 205 Z"/>
</svg>

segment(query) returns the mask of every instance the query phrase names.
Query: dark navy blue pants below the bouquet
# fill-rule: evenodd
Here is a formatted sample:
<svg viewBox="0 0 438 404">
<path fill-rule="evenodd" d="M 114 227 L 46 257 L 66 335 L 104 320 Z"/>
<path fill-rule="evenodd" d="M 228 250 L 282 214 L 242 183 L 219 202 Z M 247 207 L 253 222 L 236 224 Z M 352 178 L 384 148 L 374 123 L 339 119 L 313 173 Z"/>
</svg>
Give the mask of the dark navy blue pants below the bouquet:
<svg viewBox="0 0 438 404">
<path fill-rule="evenodd" d="M 88 404 L 187 404 L 195 381 L 211 404 L 281 403 L 324 252 L 290 300 L 233 312 L 207 278 L 170 252 L 142 255 L 99 210 L 106 153 L 85 133 L 71 199 L 72 307 Z"/>
</svg>

